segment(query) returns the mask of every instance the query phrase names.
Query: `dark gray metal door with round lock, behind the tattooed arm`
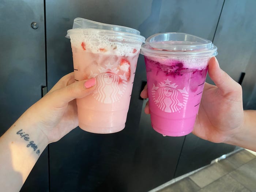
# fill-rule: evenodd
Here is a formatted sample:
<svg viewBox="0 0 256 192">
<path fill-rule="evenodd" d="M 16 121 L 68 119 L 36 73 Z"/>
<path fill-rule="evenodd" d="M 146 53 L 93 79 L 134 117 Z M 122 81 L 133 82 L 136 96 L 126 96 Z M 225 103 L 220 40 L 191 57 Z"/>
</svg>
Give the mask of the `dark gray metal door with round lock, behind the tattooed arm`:
<svg viewBox="0 0 256 192">
<path fill-rule="evenodd" d="M 1 0 L 0 18 L 1 136 L 41 98 L 46 86 L 44 1 Z M 31 27 L 32 22 L 38 23 L 38 29 Z M 48 180 L 46 148 L 21 191 L 48 191 Z"/>
</svg>

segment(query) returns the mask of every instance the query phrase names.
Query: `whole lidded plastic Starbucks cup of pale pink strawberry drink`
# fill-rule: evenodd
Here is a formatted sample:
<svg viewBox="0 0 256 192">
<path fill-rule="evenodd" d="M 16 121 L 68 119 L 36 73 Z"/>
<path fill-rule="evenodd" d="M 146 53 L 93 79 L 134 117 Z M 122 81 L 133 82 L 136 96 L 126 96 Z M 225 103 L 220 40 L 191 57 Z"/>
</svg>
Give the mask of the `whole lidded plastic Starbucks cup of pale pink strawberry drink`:
<svg viewBox="0 0 256 192">
<path fill-rule="evenodd" d="M 70 38 L 75 80 L 95 78 L 96 89 L 76 99 L 79 127 L 114 133 L 125 127 L 139 51 L 145 38 L 129 27 L 76 18 Z"/>
</svg>

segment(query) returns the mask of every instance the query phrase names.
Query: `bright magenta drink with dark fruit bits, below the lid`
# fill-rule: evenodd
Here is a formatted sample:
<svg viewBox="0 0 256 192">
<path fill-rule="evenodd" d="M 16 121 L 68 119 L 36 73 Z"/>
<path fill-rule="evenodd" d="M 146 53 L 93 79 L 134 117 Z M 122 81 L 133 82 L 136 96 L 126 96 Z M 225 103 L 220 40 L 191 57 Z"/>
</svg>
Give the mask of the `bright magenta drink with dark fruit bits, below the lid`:
<svg viewBox="0 0 256 192">
<path fill-rule="evenodd" d="M 208 61 L 209 58 L 187 63 L 145 56 L 151 123 L 155 131 L 182 136 L 193 130 Z"/>
</svg>

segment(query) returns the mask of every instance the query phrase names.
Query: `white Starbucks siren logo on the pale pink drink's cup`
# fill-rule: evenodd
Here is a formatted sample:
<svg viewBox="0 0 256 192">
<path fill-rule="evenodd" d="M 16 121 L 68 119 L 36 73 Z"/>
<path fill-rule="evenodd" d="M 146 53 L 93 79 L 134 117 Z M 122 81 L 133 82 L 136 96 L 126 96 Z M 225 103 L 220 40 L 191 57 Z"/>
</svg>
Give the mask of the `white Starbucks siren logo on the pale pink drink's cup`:
<svg viewBox="0 0 256 192">
<path fill-rule="evenodd" d="M 118 75 L 118 69 L 108 63 L 106 68 L 99 68 L 99 73 L 94 74 L 91 71 L 89 78 L 96 78 L 97 86 L 93 97 L 102 103 L 114 103 L 124 95 L 127 87 L 127 78 L 124 75 Z"/>
</svg>

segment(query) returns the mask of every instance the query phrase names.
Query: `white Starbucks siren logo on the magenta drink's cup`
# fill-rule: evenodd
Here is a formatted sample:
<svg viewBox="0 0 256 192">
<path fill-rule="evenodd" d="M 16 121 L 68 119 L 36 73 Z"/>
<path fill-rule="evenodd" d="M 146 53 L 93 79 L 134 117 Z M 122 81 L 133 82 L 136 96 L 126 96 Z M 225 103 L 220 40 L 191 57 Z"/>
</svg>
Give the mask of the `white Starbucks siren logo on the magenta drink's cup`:
<svg viewBox="0 0 256 192">
<path fill-rule="evenodd" d="M 188 102 L 188 92 L 185 87 L 176 89 L 178 85 L 170 84 L 169 79 L 164 82 L 159 83 L 159 87 L 153 84 L 151 92 L 155 104 L 167 113 L 180 112 Z"/>
</svg>

